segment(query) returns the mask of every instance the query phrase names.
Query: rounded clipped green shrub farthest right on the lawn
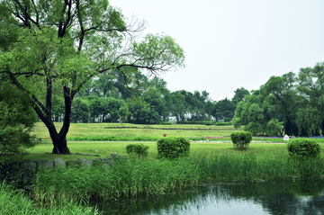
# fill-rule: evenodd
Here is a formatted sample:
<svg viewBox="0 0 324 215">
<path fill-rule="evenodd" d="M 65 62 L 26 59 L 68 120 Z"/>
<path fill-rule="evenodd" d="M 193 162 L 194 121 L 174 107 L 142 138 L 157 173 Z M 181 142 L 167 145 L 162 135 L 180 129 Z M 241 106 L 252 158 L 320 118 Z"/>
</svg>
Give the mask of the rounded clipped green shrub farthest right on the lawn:
<svg viewBox="0 0 324 215">
<path fill-rule="evenodd" d="M 313 139 L 291 139 L 287 149 L 290 157 L 305 159 L 320 156 L 320 144 Z"/>
</svg>

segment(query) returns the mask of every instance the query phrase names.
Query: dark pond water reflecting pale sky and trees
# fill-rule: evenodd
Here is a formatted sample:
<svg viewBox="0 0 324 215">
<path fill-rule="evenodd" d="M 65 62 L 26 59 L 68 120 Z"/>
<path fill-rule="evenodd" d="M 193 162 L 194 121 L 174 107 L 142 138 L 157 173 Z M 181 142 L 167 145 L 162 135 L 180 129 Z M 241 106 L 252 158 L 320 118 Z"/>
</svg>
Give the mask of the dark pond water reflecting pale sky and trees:
<svg viewBox="0 0 324 215">
<path fill-rule="evenodd" d="M 204 184 L 185 192 L 97 202 L 103 214 L 324 214 L 324 180 Z"/>
</svg>

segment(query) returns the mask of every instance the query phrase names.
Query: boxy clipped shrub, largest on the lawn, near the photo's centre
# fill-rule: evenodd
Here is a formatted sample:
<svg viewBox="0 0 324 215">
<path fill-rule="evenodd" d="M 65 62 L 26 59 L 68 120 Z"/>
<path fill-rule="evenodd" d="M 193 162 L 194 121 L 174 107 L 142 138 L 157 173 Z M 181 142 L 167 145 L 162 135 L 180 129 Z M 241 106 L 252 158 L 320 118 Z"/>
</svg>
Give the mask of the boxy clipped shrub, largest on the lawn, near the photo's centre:
<svg viewBox="0 0 324 215">
<path fill-rule="evenodd" d="M 165 138 L 157 141 L 157 157 L 176 158 L 189 156 L 190 141 L 184 138 Z"/>
</svg>

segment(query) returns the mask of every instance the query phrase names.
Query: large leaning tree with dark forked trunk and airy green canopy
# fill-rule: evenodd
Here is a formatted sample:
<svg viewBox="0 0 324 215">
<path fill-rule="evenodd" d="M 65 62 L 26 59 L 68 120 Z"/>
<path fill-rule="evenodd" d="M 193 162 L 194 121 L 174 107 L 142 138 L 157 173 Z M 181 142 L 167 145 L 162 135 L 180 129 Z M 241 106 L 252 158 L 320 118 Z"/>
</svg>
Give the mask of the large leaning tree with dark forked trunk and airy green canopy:
<svg viewBox="0 0 324 215">
<path fill-rule="evenodd" d="M 184 51 L 166 35 L 139 35 L 107 0 L 0 0 L 0 74 L 28 98 L 53 141 L 68 154 L 67 131 L 77 92 L 93 77 L 129 67 L 157 74 L 184 66 Z M 126 81 L 127 82 L 127 81 Z M 53 94 L 64 98 L 61 130 L 52 121 Z"/>
</svg>

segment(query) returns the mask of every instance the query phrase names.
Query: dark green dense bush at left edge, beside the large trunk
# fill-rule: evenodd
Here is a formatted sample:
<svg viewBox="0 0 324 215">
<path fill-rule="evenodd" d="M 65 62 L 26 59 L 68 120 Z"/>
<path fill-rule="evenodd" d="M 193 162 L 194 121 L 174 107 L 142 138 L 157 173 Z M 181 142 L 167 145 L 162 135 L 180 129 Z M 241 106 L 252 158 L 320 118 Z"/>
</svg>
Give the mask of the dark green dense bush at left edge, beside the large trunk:
<svg viewBox="0 0 324 215">
<path fill-rule="evenodd" d="M 0 154 L 21 152 L 35 146 L 30 132 L 36 121 L 25 94 L 4 83 L 0 91 Z"/>
</svg>

